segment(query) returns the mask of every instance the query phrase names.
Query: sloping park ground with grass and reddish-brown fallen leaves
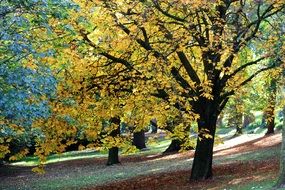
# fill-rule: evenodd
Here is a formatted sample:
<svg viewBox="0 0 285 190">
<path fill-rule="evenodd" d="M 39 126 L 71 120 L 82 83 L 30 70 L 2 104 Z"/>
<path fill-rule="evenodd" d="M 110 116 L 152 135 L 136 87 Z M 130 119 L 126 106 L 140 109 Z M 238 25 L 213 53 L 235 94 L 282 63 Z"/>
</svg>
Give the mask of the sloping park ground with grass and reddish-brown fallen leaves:
<svg viewBox="0 0 285 190">
<path fill-rule="evenodd" d="M 242 135 L 215 147 L 214 177 L 190 182 L 193 151 L 163 156 L 124 156 L 121 164 L 105 166 L 106 158 L 51 163 L 46 173 L 31 167 L 0 168 L 0 189 L 270 189 L 279 168 L 281 134 Z"/>
</svg>

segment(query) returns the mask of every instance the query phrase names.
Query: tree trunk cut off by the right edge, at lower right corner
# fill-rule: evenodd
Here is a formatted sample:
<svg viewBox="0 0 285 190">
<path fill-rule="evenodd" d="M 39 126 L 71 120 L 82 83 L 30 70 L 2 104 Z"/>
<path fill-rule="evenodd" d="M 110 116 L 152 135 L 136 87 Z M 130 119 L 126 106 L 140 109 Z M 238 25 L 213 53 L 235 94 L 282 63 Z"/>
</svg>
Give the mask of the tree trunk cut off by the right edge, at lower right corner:
<svg viewBox="0 0 285 190">
<path fill-rule="evenodd" d="M 283 118 L 285 118 L 285 106 L 283 107 Z M 285 188 L 285 120 L 283 120 L 282 126 L 282 146 L 280 155 L 279 177 L 275 188 Z"/>
</svg>

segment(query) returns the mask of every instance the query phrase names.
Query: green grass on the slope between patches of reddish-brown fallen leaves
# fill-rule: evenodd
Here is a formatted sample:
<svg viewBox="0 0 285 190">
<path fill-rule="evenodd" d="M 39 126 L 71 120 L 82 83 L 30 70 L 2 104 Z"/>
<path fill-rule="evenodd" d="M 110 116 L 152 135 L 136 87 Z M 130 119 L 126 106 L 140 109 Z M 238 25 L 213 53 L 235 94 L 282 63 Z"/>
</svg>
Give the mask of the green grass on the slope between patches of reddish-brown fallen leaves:
<svg viewBox="0 0 285 190">
<path fill-rule="evenodd" d="M 139 155 L 152 155 L 153 153 L 162 152 L 169 144 L 169 140 L 160 141 L 157 144 L 153 144 L 152 150 L 142 151 Z M 231 163 L 247 163 L 248 161 L 260 161 L 271 159 L 272 156 L 279 155 L 278 147 L 270 147 L 263 149 L 256 149 L 252 152 L 241 152 L 235 154 L 229 154 L 225 156 L 218 156 L 214 158 L 214 165 L 223 166 L 224 164 Z M 61 157 L 66 159 L 76 156 L 94 156 L 94 152 L 70 152 L 63 154 Z M 137 154 L 135 154 L 137 155 Z M 94 187 L 97 185 L 104 185 L 106 183 L 117 183 L 121 180 L 129 180 L 139 176 L 145 176 L 145 179 L 149 175 L 157 176 L 161 173 L 169 173 L 176 171 L 189 171 L 191 169 L 191 163 L 193 159 L 187 157 L 179 157 L 180 154 L 171 155 L 172 158 L 156 158 L 151 160 L 145 160 L 140 162 L 122 162 L 121 165 L 106 167 L 104 163 L 96 163 L 96 159 L 82 159 L 76 162 L 58 162 L 55 165 L 47 166 L 47 173 L 44 175 L 38 175 L 30 172 L 30 168 L 26 168 L 26 171 L 22 171 L 23 174 L 16 176 L 12 181 L 1 180 L 0 189 L 14 190 L 14 189 L 80 189 L 84 187 Z M 50 157 L 50 162 L 56 161 L 58 155 Z M 104 154 L 99 156 L 106 156 Z M 97 157 L 98 158 L 98 157 Z M 33 162 L 34 160 L 26 160 L 27 162 Z M 14 166 L 15 167 L 15 166 Z M 19 169 L 19 166 L 17 166 Z M 1 173 L 1 171 L 0 171 Z M 189 174 L 187 173 L 186 176 Z M 26 176 L 22 178 L 21 176 Z M 262 177 L 262 176 L 261 176 Z M 187 178 L 187 177 L 186 177 Z M 219 181 L 218 186 L 210 183 L 205 187 L 209 189 L 217 189 L 215 187 L 223 187 L 227 190 L 232 189 L 268 189 L 274 184 L 274 181 L 270 176 L 263 176 L 264 179 L 259 182 L 252 181 L 243 183 L 235 183 L 236 176 L 224 175 L 225 180 Z M 146 182 L 148 183 L 148 182 Z M 204 184 L 205 185 L 205 184 Z M 104 188 L 103 188 L 104 189 Z M 110 188 L 109 188 L 110 189 Z M 108 189 L 108 190 L 109 190 Z M 224 188 L 223 188 L 224 189 Z"/>
</svg>

